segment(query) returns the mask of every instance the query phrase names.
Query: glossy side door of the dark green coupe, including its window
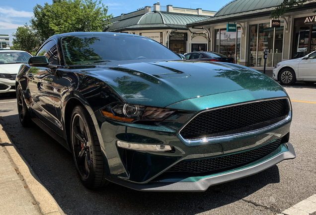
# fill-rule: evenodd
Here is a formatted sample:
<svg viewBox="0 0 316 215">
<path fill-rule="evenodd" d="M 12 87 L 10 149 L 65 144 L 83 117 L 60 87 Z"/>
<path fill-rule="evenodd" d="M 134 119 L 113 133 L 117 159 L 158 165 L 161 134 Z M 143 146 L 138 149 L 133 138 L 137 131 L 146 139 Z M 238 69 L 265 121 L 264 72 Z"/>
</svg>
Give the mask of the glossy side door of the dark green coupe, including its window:
<svg viewBox="0 0 316 215">
<path fill-rule="evenodd" d="M 56 41 L 48 41 L 36 56 L 45 56 L 50 65 L 59 65 Z M 29 79 L 28 87 L 32 99 L 30 107 L 33 112 L 49 127 L 58 128 L 61 127 L 61 124 L 56 117 L 54 74 L 55 71 L 48 67 L 31 67 L 26 75 Z"/>
</svg>

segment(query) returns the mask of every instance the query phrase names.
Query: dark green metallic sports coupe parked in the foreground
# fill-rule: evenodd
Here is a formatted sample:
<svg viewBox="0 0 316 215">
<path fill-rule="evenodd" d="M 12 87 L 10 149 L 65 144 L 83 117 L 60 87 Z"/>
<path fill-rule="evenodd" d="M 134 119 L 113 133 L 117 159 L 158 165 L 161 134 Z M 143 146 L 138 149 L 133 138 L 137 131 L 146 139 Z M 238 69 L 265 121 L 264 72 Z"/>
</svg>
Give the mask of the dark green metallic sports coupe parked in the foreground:
<svg viewBox="0 0 316 215">
<path fill-rule="evenodd" d="M 54 35 L 16 87 L 22 125 L 72 151 L 87 188 L 205 191 L 295 157 L 280 85 L 244 66 L 181 60 L 146 37 Z"/>
</svg>

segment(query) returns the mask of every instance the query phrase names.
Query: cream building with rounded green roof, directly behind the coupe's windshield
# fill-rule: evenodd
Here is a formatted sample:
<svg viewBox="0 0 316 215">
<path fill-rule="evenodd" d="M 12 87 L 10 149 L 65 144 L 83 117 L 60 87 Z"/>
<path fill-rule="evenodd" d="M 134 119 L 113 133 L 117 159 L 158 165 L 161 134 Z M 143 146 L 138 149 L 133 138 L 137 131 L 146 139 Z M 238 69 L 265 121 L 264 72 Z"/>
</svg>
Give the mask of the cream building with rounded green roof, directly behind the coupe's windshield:
<svg viewBox="0 0 316 215">
<path fill-rule="evenodd" d="M 146 36 L 168 47 L 175 53 L 209 50 L 208 29 L 187 28 L 191 22 L 212 17 L 215 11 L 173 7 L 172 5 L 146 6 L 137 11 L 121 14 L 110 21 L 106 31 L 131 33 Z"/>
</svg>

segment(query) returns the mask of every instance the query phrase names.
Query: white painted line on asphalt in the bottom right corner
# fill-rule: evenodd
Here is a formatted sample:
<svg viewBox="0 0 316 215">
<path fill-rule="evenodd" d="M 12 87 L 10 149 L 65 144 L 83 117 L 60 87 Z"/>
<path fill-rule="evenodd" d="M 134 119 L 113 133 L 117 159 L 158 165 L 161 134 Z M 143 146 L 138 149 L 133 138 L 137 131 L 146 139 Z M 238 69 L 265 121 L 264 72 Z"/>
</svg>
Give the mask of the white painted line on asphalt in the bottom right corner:
<svg viewBox="0 0 316 215">
<path fill-rule="evenodd" d="M 311 215 L 316 212 L 316 194 L 292 206 L 279 215 Z"/>
</svg>

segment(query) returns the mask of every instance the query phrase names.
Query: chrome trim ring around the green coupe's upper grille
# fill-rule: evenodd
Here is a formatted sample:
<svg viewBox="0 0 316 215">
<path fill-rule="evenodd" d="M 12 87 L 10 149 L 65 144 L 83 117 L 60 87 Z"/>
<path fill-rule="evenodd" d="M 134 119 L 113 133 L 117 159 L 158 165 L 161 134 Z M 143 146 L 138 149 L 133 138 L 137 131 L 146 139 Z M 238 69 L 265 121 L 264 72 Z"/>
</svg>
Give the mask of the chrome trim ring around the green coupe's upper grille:
<svg viewBox="0 0 316 215">
<path fill-rule="evenodd" d="M 212 111 L 212 110 L 216 110 L 216 109 L 221 109 L 221 108 L 229 108 L 229 107 L 234 107 L 234 106 L 240 106 L 240 105 L 246 105 L 246 104 L 251 104 L 251 103 L 258 103 L 258 102 L 264 102 L 264 101 L 272 101 L 272 100 L 282 100 L 282 99 L 286 99 L 288 102 L 288 107 L 289 107 L 289 113 L 288 115 L 274 123 L 259 129 L 254 129 L 254 130 L 249 130 L 249 131 L 245 131 L 245 132 L 240 132 L 240 133 L 234 133 L 234 134 L 229 134 L 229 135 L 219 135 L 219 136 L 213 136 L 213 137 L 203 137 L 203 138 L 184 138 L 180 133 L 182 131 L 182 129 L 189 124 L 197 115 L 207 112 L 207 111 Z M 220 140 L 228 140 L 228 139 L 233 139 L 233 138 L 237 138 L 237 137 L 242 137 L 242 136 L 247 136 L 247 135 L 251 135 L 251 134 L 255 134 L 255 133 L 259 133 L 259 132 L 265 132 L 267 130 L 273 129 L 275 127 L 278 127 L 281 124 L 287 123 L 288 121 L 290 121 L 292 118 L 292 107 L 290 105 L 290 101 L 289 98 L 287 97 L 281 97 L 281 98 L 274 98 L 274 99 L 265 99 L 265 100 L 257 100 L 257 101 L 251 101 L 251 102 L 246 102 L 246 103 L 238 103 L 238 104 L 234 104 L 234 105 L 230 105 L 230 106 L 224 106 L 224 107 L 219 107 L 219 108 L 212 108 L 212 109 L 207 109 L 207 110 L 203 110 L 199 113 L 197 113 L 196 115 L 194 115 L 188 122 L 186 122 L 178 131 L 178 137 L 180 140 L 186 142 L 186 143 L 199 143 L 199 142 L 210 142 L 210 141 L 220 141 Z"/>
</svg>

